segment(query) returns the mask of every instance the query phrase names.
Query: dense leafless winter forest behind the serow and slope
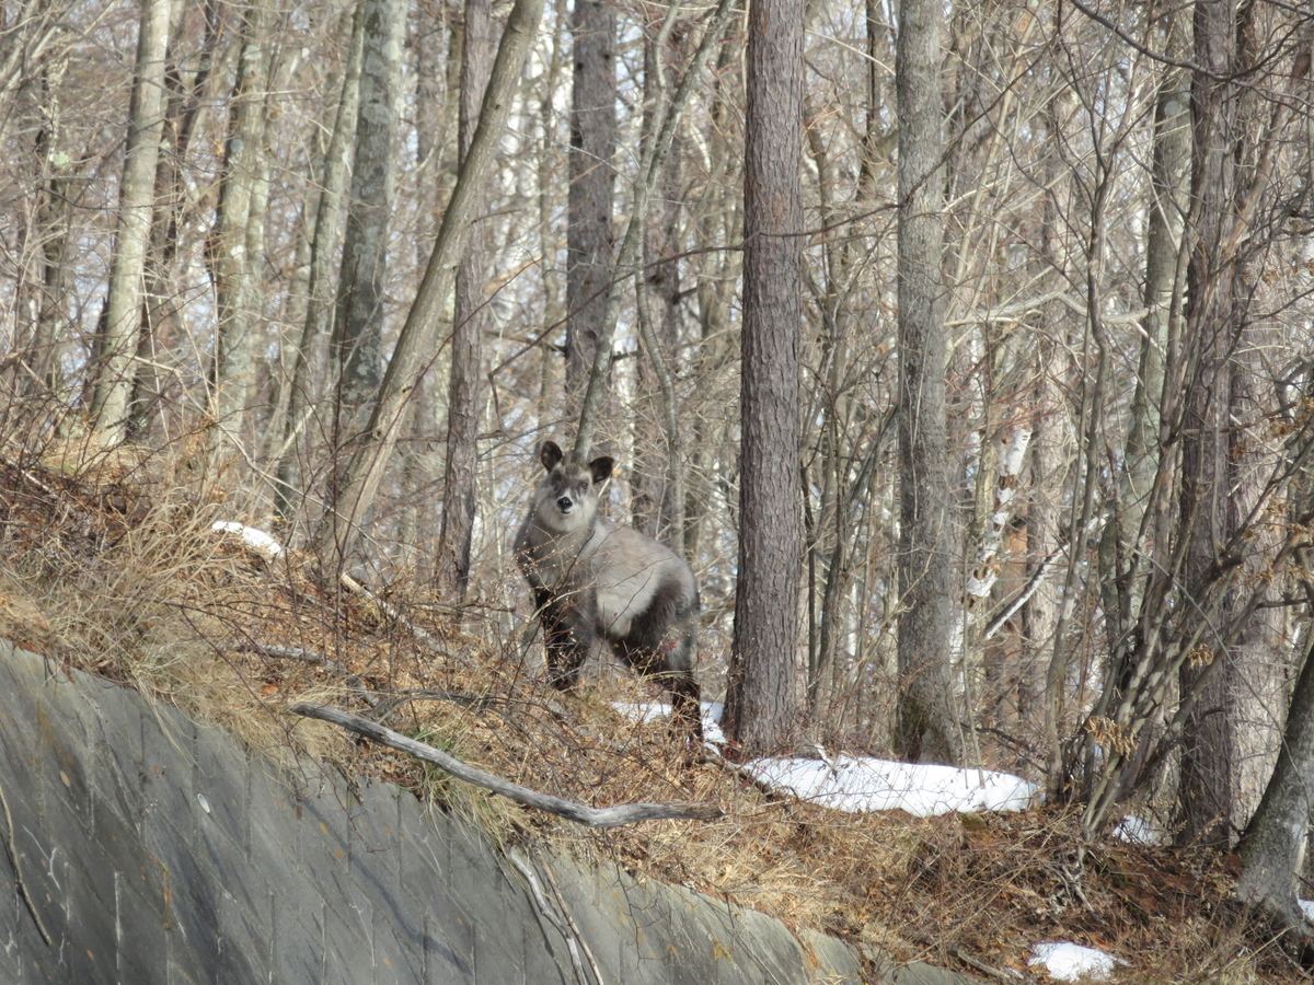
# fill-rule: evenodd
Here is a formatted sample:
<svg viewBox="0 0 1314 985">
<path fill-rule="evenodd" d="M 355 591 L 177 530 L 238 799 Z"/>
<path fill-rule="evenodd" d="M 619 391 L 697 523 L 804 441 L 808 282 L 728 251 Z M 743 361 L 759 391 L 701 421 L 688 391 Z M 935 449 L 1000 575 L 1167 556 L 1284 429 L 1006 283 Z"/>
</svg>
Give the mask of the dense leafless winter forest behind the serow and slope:
<svg viewBox="0 0 1314 985">
<path fill-rule="evenodd" d="M 541 8 L 5 0 L 4 454 L 126 445 L 510 637 L 576 439 L 694 566 L 750 751 L 1250 825 L 1290 896 L 1309 12 Z"/>
</svg>

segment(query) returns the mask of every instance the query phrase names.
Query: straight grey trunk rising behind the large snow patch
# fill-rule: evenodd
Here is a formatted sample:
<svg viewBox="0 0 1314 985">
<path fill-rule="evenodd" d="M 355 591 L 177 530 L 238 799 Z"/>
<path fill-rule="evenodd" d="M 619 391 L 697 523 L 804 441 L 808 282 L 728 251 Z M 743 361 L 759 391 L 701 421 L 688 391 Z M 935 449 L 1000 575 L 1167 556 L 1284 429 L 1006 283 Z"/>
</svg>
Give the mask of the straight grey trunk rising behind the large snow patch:
<svg viewBox="0 0 1314 985">
<path fill-rule="evenodd" d="M 949 450 L 945 437 L 943 8 L 903 0 L 899 109 L 899 721 L 912 762 L 957 764 L 962 733 L 949 675 L 953 620 Z"/>
</svg>

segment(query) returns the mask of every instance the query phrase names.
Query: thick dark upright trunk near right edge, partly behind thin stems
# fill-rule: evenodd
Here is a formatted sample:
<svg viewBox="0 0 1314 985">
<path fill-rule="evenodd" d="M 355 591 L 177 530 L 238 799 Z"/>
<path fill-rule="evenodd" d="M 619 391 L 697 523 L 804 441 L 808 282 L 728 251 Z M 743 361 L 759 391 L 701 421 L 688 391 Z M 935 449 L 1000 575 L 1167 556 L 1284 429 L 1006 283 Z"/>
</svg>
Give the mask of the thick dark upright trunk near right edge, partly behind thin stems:
<svg viewBox="0 0 1314 985">
<path fill-rule="evenodd" d="M 1194 60 L 1204 71 L 1192 80 L 1194 137 L 1190 252 L 1187 261 L 1185 414 L 1181 441 L 1180 538 L 1185 546 L 1188 603 L 1227 625 L 1242 590 L 1225 573 L 1240 557 L 1225 556 L 1252 500 L 1242 436 L 1234 432 L 1234 386 L 1247 386 L 1255 355 L 1244 343 L 1248 298 L 1239 290 L 1238 252 L 1244 167 L 1254 146 L 1246 133 L 1238 68 L 1238 5 L 1198 3 L 1194 8 Z M 1248 353 L 1248 355 L 1247 355 Z M 1239 394 L 1238 394 L 1239 397 Z M 1244 412 L 1243 412 L 1244 414 Z M 1221 598 L 1219 598 L 1221 596 Z M 1206 636 L 1181 667 L 1180 688 L 1194 704 L 1183 729 L 1180 801 L 1184 844 L 1229 844 L 1240 830 L 1238 724 L 1244 701 L 1242 650 Z M 1217 666 L 1215 666 L 1217 665 Z"/>
</svg>

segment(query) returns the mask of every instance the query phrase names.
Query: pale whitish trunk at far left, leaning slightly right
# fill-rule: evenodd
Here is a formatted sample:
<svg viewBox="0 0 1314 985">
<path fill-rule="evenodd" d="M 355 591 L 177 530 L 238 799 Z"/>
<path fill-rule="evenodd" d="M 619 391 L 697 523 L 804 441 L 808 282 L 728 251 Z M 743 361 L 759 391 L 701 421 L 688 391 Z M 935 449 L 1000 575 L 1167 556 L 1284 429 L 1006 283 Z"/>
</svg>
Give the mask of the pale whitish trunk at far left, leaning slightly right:
<svg viewBox="0 0 1314 985">
<path fill-rule="evenodd" d="M 133 393 L 133 359 L 142 317 L 142 276 L 155 210 L 155 165 L 164 130 L 164 66 L 170 0 L 143 0 L 127 150 L 118 196 L 118 234 L 109 272 L 101 368 L 91 414 L 106 443 L 121 441 Z"/>
</svg>

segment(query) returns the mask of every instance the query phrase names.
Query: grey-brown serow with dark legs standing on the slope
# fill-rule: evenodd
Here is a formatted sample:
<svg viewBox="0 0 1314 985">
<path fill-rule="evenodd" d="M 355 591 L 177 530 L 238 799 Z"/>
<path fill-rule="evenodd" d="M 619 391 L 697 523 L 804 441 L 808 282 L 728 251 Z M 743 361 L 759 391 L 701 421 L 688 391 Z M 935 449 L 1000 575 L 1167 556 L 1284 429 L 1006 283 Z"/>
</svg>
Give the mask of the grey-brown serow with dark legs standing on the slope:
<svg viewBox="0 0 1314 985">
<path fill-rule="evenodd" d="M 698 584 L 671 550 L 598 514 L 612 460 L 585 465 L 553 441 L 539 452 L 545 474 L 515 538 L 539 609 L 548 679 L 568 691 L 597 641 L 670 692 L 671 718 L 700 739 L 694 667 Z"/>
</svg>

